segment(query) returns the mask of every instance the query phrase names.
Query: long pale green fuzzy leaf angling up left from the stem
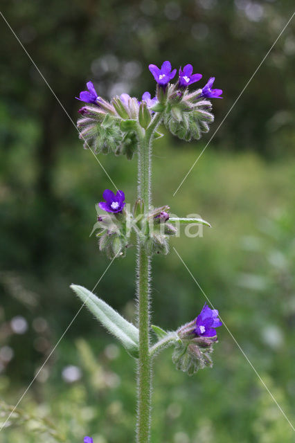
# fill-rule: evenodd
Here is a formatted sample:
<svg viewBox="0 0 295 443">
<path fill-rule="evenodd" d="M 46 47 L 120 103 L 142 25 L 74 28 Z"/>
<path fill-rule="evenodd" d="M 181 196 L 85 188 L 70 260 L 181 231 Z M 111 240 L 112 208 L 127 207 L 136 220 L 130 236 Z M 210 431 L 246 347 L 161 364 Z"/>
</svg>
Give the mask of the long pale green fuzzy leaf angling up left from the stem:
<svg viewBox="0 0 295 443">
<path fill-rule="evenodd" d="M 118 338 L 118 341 L 122 343 L 128 354 L 138 358 L 139 334 L 137 327 L 125 320 L 117 311 L 88 289 L 78 284 L 71 284 L 71 289 L 75 291 L 83 304 L 88 307 L 89 311 L 102 326 L 105 326 L 110 334 Z"/>
</svg>

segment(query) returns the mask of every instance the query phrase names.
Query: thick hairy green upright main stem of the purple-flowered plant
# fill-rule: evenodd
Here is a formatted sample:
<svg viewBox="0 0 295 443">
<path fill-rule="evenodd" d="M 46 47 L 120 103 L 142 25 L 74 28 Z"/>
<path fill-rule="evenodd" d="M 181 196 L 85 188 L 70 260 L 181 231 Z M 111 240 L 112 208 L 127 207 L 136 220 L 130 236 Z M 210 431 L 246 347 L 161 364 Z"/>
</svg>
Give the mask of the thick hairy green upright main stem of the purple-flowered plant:
<svg viewBox="0 0 295 443">
<path fill-rule="evenodd" d="M 151 205 L 151 143 L 154 131 L 161 121 L 161 114 L 155 114 L 146 131 L 138 126 L 138 198 L 143 199 L 144 212 Z M 145 253 L 141 238 L 137 237 L 137 295 L 139 357 L 137 382 L 137 443 L 150 441 L 150 414 L 152 397 L 152 359 L 150 356 L 150 257 Z"/>
</svg>

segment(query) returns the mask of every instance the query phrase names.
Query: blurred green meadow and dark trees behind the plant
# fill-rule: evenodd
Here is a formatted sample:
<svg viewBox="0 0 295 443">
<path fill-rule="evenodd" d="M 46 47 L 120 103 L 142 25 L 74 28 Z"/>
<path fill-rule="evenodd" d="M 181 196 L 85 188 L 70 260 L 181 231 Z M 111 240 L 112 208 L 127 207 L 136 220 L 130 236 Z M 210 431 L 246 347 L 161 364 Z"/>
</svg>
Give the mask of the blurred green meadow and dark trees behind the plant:
<svg viewBox="0 0 295 443">
<path fill-rule="evenodd" d="M 168 134 L 154 145 L 154 205 L 211 222 L 202 238 L 172 239 L 287 417 L 294 408 L 294 22 L 287 26 L 179 192 L 173 192 L 292 15 L 294 3 L 248 0 L 20 1 L 1 10 L 0 417 L 17 403 L 109 262 L 95 237 L 94 205 L 111 188 L 82 149 L 75 96 L 154 90 L 148 64 L 192 63 L 224 99 L 198 143 Z M 70 117 L 70 118 L 69 118 Z M 136 161 L 99 156 L 127 201 Z M 134 260 L 114 262 L 96 293 L 134 320 Z M 152 321 L 175 329 L 204 296 L 172 250 L 153 260 Z M 171 350 L 154 365 L 153 443 L 293 442 L 293 431 L 225 327 L 215 365 L 189 378 Z M 82 309 L 39 372 L 1 443 L 129 443 L 134 361 Z M 294 412 L 294 410 L 293 410 Z"/>
</svg>

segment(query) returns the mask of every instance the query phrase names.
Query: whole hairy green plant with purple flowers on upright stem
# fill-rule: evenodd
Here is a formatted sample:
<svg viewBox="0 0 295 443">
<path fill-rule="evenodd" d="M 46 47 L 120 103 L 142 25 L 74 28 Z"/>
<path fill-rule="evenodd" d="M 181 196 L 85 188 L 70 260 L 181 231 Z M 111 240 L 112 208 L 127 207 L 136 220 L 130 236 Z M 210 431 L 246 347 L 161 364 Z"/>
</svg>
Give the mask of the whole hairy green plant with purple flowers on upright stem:
<svg viewBox="0 0 295 443">
<path fill-rule="evenodd" d="M 200 314 L 190 323 L 176 331 L 166 332 L 150 324 L 150 269 L 152 255 L 167 254 L 170 235 L 177 235 L 180 224 L 210 226 L 199 217 L 173 217 L 167 205 L 152 207 L 151 156 L 152 142 L 161 137 L 162 123 L 175 136 L 186 140 L 198 140 L 208 132 L 213 122 L 212 104 L 208 98 L 221 98 L 221 89 L 212 89 L 215 78 L 210 78 L 203 88 L 189 91 L 188 87 L 201 80 L 202 75 L 193 74 L 193 66 L 186 64 L 172 69 L 170 62 L 161 68 L 149 66 L 157 82 L 156 95 L 145 91 L 141 101 L 127 93 L 107 101 L 98 96 L 92 82 L 87 82 L 88 91 L 82 91 L 78 100 L 80 108 L 78 128 L 84 148 L 95 154 L 138 156 L 138 198 L 133 205 L 125 202 L 125 193 L 111 190 L 102 193 L 104 201 L 96 205 L 97 221 L 93 231 L 98 237 L 100 251 L 111 260 L 125 256 L 132 246 L 132 236 L 137 242 L 137 299 L 138 324 L 129 323 L 106 302 L 87 289 L 73 284 L 71 287 L 87 305 L 98 321 L 125 347 L 136 360 L 137 379 L 137 424 L 138 443 L 150 441 L 150 412 L 152 391 L 152 361 L 161 350 L 173 345 L 172 361 L 178 370 L 192 375 L 200 368 L 212 366 L 211 353 L 217 343 L 216 328 L 222 325 L 218 311 L 204 305 Z M 128 201 L 128 199 L 127 199 Z M 152 344 L 150 331 L 157 341 Z M 84 443 L 93 443 L 84 437 Z"/>
</svg>

